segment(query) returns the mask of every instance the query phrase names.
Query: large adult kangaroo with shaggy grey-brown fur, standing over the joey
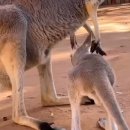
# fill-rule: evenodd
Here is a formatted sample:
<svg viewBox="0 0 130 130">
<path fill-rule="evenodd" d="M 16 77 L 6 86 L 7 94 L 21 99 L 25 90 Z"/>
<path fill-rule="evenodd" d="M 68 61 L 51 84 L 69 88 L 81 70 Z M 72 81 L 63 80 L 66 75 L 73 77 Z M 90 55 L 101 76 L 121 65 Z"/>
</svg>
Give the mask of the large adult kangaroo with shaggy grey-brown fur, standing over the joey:
<svg viewBox="0 0 130 130">
<path fill-rule="evenodd" d="M 57 97 L 51 72 L 51 49 L 91 16 L 95 41 L 100 41 L 97 0 L 0 0 L 0 81 L 12 86 L 12 118 L 34 129 L 53 129 L 50 124 L 27 115 L 23 95 L 23 73 L 37 66 L 44 106 L 68 103 Z M 95 48 L 96 49 L 96 48 Z M 55 128 L 56 129 L 56 128 Z"/>
</svg>

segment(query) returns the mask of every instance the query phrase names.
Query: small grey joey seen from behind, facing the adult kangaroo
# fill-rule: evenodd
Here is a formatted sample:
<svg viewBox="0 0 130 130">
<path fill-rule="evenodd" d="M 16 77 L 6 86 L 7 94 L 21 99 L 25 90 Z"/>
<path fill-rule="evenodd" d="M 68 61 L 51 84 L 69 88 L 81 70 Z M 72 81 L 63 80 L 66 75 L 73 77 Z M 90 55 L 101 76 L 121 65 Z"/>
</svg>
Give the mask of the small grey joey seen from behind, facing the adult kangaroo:
<svg viewBox="0 0 130 130">
<path fill-rule="evenodd" d="M 106 130 L 129 130 L 121 113 L 113 87 L 115 75 L 110 65 L 98 54 L 90 54 L 91 36 L 72 55 L 74 68 L 69 74 L 69 100 L 72 110 L 71 130 L 81 130 L 80 102 L 83 96 L 88 96 L 97 105 L 103 105 L 108 121 L 104 124 Z M 102 120 L 103 121 L 103 120 Z"/>
</svg>

